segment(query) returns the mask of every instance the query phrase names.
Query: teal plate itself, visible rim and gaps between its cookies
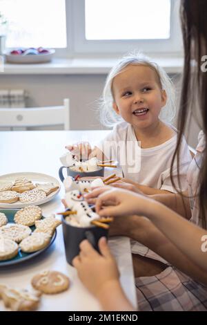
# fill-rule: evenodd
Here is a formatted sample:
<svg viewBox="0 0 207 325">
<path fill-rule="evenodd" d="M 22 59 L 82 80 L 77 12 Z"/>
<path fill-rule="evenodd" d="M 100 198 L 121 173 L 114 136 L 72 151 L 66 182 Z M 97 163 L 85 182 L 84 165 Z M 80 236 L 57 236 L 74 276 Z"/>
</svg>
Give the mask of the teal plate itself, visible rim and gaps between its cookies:
<svg viewBox="0 0 207 325">
<path fill-rule="evenodd" d="M 6 217 L 8 219 L 9 223 L 14 223 L 14 214 L 18 211 L 19 209 L 6 209 L 6 210 L 0 210 L 0 212 L 6 214 Z M 32 227 L 30 227 L 32 231 L 34 231 L 35 226 L 32 225 Z M 21 250 L 19 249 L 18 254 L 13 257 L 12 259 L 8 259 L 6 261 L 0 261 L 0 267 L 1 266 L 10 266 L 10 265 L 14 265 L 17 263 L 21 263 L 23 261 L 27 261 L 28 259 L 32 259 L 32 257 L 35 257 L 39 254 L 41 254 L 42 252 L 44 252 L 45 250 L 47 250 L 50 245 L 52 245 L 53 241 L 55 241 L 55 238 L 57 236 L 57 230 L 55 230 L 55 233 L 52 236 L 52 239 L 50 240 L 50 243 L 48 243 L 48 245 L 43 248 L 42 250 L 37 250 L 37 252 L 33 252 L 33 253 L 25 253 L 25 252 L 21 252 Z"/>
</svg>

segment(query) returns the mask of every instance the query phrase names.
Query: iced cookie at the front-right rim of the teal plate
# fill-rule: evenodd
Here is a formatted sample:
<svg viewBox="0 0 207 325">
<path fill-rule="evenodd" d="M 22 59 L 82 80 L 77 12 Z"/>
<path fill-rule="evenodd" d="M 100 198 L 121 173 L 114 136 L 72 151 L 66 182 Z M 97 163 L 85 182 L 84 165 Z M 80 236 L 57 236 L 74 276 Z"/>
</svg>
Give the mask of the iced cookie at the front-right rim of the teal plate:
<svg viewBox="0 0 207 325">
<path fill-rule="evenodd" d="M 19 247 L 21 248 L 22 252 L 37 252 L 37 250 L 41 250 L 48 245 L 50 238 L 51 237 L 49 234 L 46 234 L 45 232 L 35 232 L 31 234 L 31 236 L 23 239 L 23 241 L 21 241 L 19 244 Z"/>
</svg>

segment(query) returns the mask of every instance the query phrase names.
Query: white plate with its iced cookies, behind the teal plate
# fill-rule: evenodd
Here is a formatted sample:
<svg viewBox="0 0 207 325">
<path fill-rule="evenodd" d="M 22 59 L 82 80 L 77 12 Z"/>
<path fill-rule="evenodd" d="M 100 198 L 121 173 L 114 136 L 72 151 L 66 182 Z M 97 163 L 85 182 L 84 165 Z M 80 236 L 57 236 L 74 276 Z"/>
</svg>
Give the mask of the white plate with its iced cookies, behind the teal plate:
<svg viewBox="0 0 207 325">
<path fill-rule="evenodd" d="M 24 172 L 0 176 L 0 208 L 41 205 L 60 190 L 59 181 L 46 174 Z"/>
</svg>

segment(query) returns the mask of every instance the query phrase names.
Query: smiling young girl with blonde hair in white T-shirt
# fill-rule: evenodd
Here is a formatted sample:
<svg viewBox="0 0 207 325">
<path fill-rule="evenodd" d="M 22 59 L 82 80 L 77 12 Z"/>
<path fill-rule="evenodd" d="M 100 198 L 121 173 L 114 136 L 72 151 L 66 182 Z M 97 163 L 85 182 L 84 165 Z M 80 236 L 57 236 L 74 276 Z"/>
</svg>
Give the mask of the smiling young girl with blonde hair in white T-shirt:
<svg viewBox="0 0 207 325">
<path fill-rule="evenodd" d="M 176 192 L 170 180 L 170 163 L 177 142 L 177 130 L 170 124 L 175 115 L 175 89 L 163 68 L 140 54 L 123 57 L 106 79 L 100 104 L 100 119 L 114 126 L 95 149 L 88 143 L 69 145 L 71 151 L 117 160 L 124 181 L 145 194 Z M 179 163 L 173 170 L 177 188 L 187 187 L 186 171 L 191 156 L 184 137 Z"/>
</svg>

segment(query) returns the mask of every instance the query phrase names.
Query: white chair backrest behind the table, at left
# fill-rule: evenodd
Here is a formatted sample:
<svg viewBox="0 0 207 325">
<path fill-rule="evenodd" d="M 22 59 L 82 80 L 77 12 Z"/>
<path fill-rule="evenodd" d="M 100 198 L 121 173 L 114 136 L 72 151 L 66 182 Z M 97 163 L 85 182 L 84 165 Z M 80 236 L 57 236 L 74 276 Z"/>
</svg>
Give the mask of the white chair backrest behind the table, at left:
<svg viewBox="0 0 207 325">
<path fill-rule="evenodd" d="M 70 129 L 70 101 L 63 106 L 28 107 L 24 109 L 0 109 L 0 127 L 45 127 L 63 124 Z"/>
</svg>

